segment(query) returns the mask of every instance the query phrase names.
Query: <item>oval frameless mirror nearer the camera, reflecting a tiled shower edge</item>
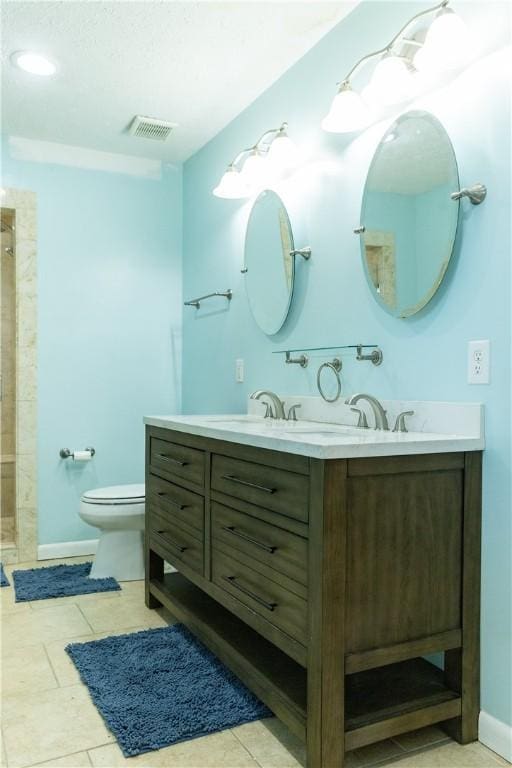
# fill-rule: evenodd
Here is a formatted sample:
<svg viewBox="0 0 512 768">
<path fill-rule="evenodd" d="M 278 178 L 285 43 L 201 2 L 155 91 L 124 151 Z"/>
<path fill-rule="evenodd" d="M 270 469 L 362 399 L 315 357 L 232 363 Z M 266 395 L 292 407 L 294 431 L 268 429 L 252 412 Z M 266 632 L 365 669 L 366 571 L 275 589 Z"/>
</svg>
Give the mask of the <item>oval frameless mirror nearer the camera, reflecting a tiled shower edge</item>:
<svg viewBox="0 0 512 768">
<path fill-rule="evenodd" d="M 439 288 L 455 241 L 455 153 L 428 112 L 401 115 L 383 136 L 364 188 L 361 253 L 368 285 L 395 317 L 419 312 Z"/>
</svg>

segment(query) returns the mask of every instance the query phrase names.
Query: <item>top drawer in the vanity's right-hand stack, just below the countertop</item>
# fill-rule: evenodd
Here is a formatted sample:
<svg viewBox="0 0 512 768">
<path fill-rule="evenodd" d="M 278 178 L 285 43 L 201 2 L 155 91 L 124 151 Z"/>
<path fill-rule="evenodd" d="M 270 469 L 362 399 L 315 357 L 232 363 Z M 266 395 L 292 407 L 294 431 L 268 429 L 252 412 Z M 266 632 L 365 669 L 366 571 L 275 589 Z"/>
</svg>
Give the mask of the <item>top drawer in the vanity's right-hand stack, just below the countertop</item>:
<svg viewBox="0 0 512 768">
<path fill-rule="evenodd" d="M 307 522 L 309 478 L 265 464 L 212 456 L 212 488 Z"/>
</svg>

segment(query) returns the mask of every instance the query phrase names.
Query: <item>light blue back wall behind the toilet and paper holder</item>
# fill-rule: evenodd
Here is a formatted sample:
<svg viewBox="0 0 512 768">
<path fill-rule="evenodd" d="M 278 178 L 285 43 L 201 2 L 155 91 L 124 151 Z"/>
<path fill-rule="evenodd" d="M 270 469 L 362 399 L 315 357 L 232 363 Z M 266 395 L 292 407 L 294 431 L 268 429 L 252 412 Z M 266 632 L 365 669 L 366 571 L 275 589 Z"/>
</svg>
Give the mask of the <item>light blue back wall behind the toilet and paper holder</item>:
<svg viewBox="0 0 512 768">
<path fill-rule="evenodd" d="M 161 181 L 3 155 L 37 193 L 39 544 L 96 538 L 88 489 L 144 481 L 147 413 L 180 408 L 181 170 Z M 59 449 L 92 445 L 87 464 Z"/>
</svg>

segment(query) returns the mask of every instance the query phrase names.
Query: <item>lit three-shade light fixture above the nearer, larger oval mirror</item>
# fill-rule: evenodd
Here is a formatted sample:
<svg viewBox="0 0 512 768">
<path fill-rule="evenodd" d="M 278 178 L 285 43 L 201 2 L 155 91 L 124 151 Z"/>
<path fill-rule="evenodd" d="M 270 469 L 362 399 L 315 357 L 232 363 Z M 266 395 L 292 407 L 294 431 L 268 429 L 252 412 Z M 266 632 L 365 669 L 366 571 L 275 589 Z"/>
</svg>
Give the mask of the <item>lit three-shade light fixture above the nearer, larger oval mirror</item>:
<svg viewBox="0 0 512 768">
<path fill-rule="evenodd" d="M 378 51 L 363 56 L 340 83 L 322 128 L 332 133 L 362 130 L 374 117 L 374 109 L 413 98 L 418 90 L 418 73 L 438 73 L 460 66 L 468 56 L 469 35 L 466 25 L 451 8 L 449 0 L 413 16 Z M 420 17 L 436 13 L 428 29 L 407 31 Z M 368 85 L 359 94 L 351 78 L 370 59 L 380 57 Z"/>
</svg>

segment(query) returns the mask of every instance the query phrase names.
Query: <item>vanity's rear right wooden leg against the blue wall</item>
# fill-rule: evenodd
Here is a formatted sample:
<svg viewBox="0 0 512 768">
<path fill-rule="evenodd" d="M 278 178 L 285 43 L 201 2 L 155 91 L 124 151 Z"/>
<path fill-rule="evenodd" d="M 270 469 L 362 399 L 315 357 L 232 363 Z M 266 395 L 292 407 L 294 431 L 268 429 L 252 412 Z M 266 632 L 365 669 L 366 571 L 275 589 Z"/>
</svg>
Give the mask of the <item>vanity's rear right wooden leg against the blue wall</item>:
<svg viewBox="0 0 512 768">
<path fill-rule="evenodd" d="M 462 557 L 462 648 L 445 653 L 445 677 L 460 691 L 462 714 L 443 724 L 461 744 L 478 738 L 480 711 L 480 538 L 482 454 L 466 453 Z"/>
</svg>

